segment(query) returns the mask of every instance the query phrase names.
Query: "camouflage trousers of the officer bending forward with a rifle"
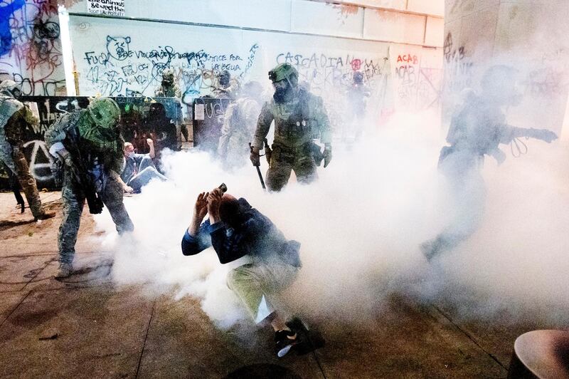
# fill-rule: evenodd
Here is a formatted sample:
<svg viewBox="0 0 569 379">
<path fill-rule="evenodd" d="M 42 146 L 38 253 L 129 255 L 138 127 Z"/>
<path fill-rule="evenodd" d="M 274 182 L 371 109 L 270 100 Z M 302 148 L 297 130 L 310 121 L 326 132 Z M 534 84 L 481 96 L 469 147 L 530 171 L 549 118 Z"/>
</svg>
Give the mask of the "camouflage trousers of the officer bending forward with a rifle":
<svg viewBox="0 0 569 379">
<path fill-rule="evenodd" d="M 134 225 L 122 203 L 122 185 L 114 177 L 104 175 L 107 177 L 106 185 L 100 193 L 102 202 L 109 209 L 117 232 L 119 234 L 132 232 Z M 63 174 L 61 197 L 63 199 L 63 219 L 58 234 L 59 261 L 71 264 L 75 256 L 75 242 L 77 242 L 81 213 L 83 213 L 85 204 L 85 194 L 68 170 L 65 170 Z"/>
</svg>

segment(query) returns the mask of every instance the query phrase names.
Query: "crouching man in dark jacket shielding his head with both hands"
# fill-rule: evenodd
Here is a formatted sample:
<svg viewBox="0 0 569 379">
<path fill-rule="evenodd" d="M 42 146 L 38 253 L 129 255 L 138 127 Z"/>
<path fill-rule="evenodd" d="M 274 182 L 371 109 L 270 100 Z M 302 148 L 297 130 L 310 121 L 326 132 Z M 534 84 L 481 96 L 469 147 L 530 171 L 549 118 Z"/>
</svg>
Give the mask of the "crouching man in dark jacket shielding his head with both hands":
<svg viewBox="0 0 569 379">
<path fill-rule="evenodd" d="M 208 219 L 200 224 L 206 214 Z M 223 194 L 216 188 L 198 195 L 191 224 L 181 242 L 186 256 L 209 246 L 213 246 L 221 264 L 248 257 L 250 263 L 229 272 L 227 284 L 255 323 L 270 321 L 275 330 L 277 355 L 287 354 L 299 343 L 299 328 L 285 323 L 274 306 L 278 294 L 297 277 L 300 244 L 285 239 L 275 224 L 247 200 Z"/>
</svg>

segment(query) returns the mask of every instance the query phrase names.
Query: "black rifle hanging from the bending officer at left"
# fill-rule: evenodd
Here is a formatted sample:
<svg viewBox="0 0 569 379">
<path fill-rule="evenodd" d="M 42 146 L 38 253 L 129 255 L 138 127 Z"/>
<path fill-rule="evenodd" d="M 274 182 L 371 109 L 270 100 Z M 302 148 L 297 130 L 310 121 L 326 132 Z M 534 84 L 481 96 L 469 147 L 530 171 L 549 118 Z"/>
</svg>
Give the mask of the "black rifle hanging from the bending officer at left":
<svg viewBox="0 0 569 379">
<path fill-rule="evenodd" d="M 75 178 L 75 181 L 80 185 L 81 190 L 85 194 L 85 199 L 87 199 L 87 205 L 89 205 L 89 212 L 91 214 L 100 214 L 102 208 L 104 207 L 103 202 L 99 194 L 97 193 L 95 187 L 95 180 L 89 174 L 85 163 L 83 163 L 83 157 L 81 157 L 81 150 L 75 142 L 74 138 L 65 138 L 65 148 L 68 150 L 71 161 L 73 162 L 73 167 L 67 167 L 71 171 L 71 175 Z"/>
</svg>

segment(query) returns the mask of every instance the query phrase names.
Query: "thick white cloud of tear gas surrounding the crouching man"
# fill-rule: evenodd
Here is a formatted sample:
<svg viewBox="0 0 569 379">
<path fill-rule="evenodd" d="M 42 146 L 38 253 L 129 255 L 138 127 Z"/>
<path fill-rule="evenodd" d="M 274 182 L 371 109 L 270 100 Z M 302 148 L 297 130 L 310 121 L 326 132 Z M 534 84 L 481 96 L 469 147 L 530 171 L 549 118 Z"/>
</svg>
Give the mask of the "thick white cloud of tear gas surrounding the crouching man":
<svg viewBox="0 0 569 379">
<path fill-rule="evenodd" d="M 464 311 L 501 308 L 566 311 L 569 304 L 569 200 L 559 145 L 528 141 L 527 155 L 486 160 L 486 211 L 479 230 L 432 264 L 419 245 L 450 222 L 437 174 L 444 140 L 433 115 L 395 115 L 377 133 L 319 168 L 313 185 L 289 182 L 262 192 L 253 167 L 228 174 L 203 152 L 163 157 L 169 182 L 152 182 L 125 199 L 135 225 L 117 238 L 108 214 L 96 217 L 105 249 L 113 249 L 117 284 L 145 283 L 149 291 L 201 299 L 221 327 L 246 318 L 225 284 L 230 265 L 211 249 L 182 256 L 181 237 L 197 194 L 228 185 L 266 214 L 289 239 L 302 243 L 303 267 L 287 290 L 292 310 L 305 316 L 358 322 L 373 317 L 391 294 L 437 301 L 445 294 Z M 266 162 L 263 162 L 263 172 Z M 454 291 L 453 291 L 454 290 Z M 477 299 L 477 306 L 467 300 Z M 469 308 L 469 306 L 471 308 Z"/>
</svg>

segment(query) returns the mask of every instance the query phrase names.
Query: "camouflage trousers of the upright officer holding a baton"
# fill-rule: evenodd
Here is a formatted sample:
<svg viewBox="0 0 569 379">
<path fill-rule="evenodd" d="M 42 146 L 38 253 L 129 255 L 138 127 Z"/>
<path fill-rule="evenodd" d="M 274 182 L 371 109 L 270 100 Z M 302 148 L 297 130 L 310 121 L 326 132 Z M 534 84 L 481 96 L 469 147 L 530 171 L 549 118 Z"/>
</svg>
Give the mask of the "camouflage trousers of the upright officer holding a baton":
<svg viewBox="0 0 569 379">
<path fill-rule="evenodd" d="M 269 190 L 282 190 L 289 181 L 292 170 L 301 183 L 308 184 L 318 178 L 310 143 L 293 148 L 272 145 L 271 164 L 267 170 Z"/>
</svg>

